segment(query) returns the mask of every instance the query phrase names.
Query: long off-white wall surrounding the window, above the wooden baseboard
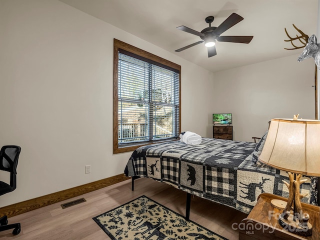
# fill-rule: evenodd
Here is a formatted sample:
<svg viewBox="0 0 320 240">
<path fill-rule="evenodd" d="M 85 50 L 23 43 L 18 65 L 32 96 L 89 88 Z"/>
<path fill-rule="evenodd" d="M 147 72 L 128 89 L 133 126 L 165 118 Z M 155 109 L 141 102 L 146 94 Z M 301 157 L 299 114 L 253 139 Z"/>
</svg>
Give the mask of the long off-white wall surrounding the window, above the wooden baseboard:
<svg viewBox="0 0 320 240">
<path fill-rule="evenodd" d="M 130 152 L 112 154 L 113 38 L 180 64 L 181 129 L 211 136 L 211 72 L 58 0 L 0 0 L 0 145 L 22 148 L 0 207 L 123 172 Z"/>
</svg>

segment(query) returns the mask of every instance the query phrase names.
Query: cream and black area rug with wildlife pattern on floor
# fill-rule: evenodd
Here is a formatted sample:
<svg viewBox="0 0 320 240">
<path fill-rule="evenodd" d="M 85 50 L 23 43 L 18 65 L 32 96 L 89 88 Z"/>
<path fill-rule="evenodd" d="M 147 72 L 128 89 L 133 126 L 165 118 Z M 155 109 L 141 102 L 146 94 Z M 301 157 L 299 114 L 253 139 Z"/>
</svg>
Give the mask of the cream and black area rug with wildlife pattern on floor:
<svg viewBox="0 0 320 240">
<path fill-rule="evenodd" d="M 144 195 L 92 219 L 113 240 L 227 240 Z"/>
</svg>

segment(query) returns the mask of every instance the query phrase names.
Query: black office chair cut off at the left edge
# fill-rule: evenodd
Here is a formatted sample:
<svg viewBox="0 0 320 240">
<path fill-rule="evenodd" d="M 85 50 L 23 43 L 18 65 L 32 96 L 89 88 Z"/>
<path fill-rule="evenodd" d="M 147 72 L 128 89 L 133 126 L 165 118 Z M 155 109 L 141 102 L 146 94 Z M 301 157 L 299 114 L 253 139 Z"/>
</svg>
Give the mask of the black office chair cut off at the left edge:
<svg viewBox="0 0 320 240">
<path fill-rule="evenodd" d="M 2 146 L 0 150 L 0 170 L 10 172 L 10 184 L 0 181 L 0 195 L 13 191 L 16 188 L 16 166 L 21 147 L 14 145 Z M 19 234 L 20 223 L 8 224 L 7 216 L 0 217 L 0 231 L 13 229 L 12 234 Z"/>
</svg>

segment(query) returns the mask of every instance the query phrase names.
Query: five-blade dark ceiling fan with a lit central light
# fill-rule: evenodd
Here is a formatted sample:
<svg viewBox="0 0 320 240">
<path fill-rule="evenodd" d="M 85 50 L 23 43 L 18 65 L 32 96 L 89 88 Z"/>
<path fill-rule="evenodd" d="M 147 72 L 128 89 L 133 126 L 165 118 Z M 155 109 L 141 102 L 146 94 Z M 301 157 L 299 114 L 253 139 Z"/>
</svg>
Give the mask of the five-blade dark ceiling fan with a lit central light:
<svg viewBox="0 0 320 240">
<path fill-rule="evenodd" d="M 199 36 L 202 40 L 194 42 L 190 45 L 181 47 L 179 49 L 176 49 L 175 51 L 183 51 L 191 46 L 195 46 L 197 44 L 200 44 L 202 42 L 205 43 L 205 46 L 208 48 L 208 57 L 216 55 L 215 50 L 215 40 L 217 41 L 225 41 L 225 42 L 238 42 L 238 43 L 249 43 L 253 36 L 220 36 L 221 33 L 229 29 L 231 26 L 235 25 L 239 21 L 243 20 L 243 17 L 232 13 L 228 16 L 218 27 L 211 26 L 211 22 L 213 21 L 213 16 L 207 16 L 205 18 L 205 22 L 209 23 L 209 27 L 204 28 L 201 32 L 193 30 L 186 26 L 178 26 L 177 29 L 186 31 L 188 33 L 194 34 Z"/>
</svg>

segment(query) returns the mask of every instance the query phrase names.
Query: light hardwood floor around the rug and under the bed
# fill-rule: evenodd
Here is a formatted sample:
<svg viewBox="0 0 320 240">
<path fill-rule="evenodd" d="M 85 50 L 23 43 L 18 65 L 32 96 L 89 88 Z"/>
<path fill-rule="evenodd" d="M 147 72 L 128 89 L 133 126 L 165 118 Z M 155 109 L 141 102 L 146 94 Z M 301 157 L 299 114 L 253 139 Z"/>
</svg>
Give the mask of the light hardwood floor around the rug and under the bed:
<svg viewBox="0 0 320 240">
<path fill-rule="evenodd" d="M 146 195 L 171 210 L 185 215 L 185 192 L 149 178 L 139 178 L 134 183 L 134 191 L 131 191 L 131 180 L 129 179 L 10 217 L 8 223 L 21 223 L 21 232 L 18 235 L 12 235 L 12 230 L 2 231 L 0 239 L 110 239 L 92 220 L 92 217 L 141 195 Z M 64 209 L 60 206 L 62 203 L 81 197 L 84 197 L 86 201 Z M 231 224 L 239 223 L 246 216 L 247 214 L 233 208 L 200 197 L 191 198 L 190 220 L 229 240 L 238 239 L 238 232 L 232 229 Z"/>
</svg>

